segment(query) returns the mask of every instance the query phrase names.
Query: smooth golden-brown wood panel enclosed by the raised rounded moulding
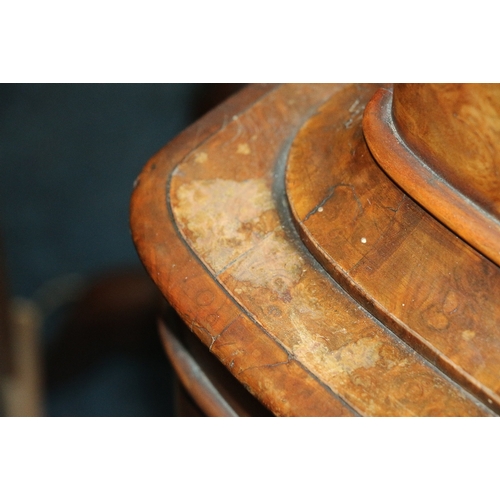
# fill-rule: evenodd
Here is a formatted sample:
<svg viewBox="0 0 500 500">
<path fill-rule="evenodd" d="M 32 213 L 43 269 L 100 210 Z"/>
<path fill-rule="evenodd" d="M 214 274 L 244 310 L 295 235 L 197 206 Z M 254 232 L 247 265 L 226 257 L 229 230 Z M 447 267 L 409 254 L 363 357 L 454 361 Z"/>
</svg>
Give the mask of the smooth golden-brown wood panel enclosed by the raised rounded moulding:
<svg viewBox="0 0 500 500">
<path fill-rule="evenodd" d="M 399 83 L 391 107 L 411 151 L 498 219 L 500 85 Z"/>
</svg>

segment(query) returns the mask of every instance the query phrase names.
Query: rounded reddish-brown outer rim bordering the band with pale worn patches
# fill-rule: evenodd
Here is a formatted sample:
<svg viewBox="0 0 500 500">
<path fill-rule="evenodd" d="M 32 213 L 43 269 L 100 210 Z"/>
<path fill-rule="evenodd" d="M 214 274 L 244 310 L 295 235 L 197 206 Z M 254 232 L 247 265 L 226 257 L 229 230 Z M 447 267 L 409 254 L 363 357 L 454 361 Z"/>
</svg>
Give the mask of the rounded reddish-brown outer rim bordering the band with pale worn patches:
<svg viewBox="0 0 500 500">
<path fill-rule="evenodd" d="M 270 411 L 278 416 L 355 416 L 228 297 L 180 237 L 168 209 L 167 185 L 176 166 L 274 89 L 247 87 L 149 160 L 131 197 L 132 237 L 149 275 L 183 321 Z M 210 305 L 202 307 L 200 294 L 210 296 Z"/>
</svg>

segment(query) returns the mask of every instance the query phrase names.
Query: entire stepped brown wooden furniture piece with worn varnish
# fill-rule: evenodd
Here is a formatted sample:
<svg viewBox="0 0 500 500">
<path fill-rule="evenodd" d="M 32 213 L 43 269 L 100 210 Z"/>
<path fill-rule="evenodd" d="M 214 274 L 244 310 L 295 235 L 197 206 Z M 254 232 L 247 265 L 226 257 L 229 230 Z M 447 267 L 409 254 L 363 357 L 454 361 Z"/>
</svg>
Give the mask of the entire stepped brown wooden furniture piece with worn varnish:
<svg viewBox="0 0 500 500">
<path fill-rule="evenodd" d="M 500 412 L 500 86 L 249 86 L 131 226 L 200 414 Z"/>
</svg>

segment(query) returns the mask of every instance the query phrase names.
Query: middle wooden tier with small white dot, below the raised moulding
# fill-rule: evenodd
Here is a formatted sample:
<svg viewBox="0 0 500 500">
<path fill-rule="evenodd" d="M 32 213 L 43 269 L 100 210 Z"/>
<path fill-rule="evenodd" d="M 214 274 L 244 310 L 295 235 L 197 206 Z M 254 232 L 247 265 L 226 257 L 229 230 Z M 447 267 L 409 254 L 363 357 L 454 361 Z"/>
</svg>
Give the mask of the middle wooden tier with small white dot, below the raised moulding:
<svg viewBox="0 0 500 500">
<path fill-rule="evenodd" d="M 500 269 L 374 161 L 361 128 L 374 90 L 344 89 L 295 136 L 287 195 L 297 227 L 346 290 L 498 411 Z"/>
</svg>

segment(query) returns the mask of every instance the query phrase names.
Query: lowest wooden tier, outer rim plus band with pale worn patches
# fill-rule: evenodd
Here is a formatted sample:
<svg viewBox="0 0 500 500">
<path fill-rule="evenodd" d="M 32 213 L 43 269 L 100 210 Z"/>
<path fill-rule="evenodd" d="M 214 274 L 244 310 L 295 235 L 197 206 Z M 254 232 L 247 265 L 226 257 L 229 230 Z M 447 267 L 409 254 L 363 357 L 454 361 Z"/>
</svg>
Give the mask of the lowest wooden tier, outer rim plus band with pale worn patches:
<svg viewBox="0 0 500 500">
<path fill-rule="evenodd" d="M 297 132 L 339 99 L 354 129 L 376 89 L 282 85 L 239 94 L 146 165 L 131 205 L 136 247 L 186 324 L 277 415 L 493 415 L 360 307 L 288 220 L 284 167 Z M 325 127 L 331 139 L 337 125 Z M 331 141 L 318 148 L 340 151 Z M 314 163 L 307 155 L 303 168 Z M 393 211 L 381 211 L 394 216 L 393 196 L 385 200 Z M 326 211 L 323 199 L 304 217 L 315 206 Z"/>
</svg>

